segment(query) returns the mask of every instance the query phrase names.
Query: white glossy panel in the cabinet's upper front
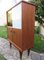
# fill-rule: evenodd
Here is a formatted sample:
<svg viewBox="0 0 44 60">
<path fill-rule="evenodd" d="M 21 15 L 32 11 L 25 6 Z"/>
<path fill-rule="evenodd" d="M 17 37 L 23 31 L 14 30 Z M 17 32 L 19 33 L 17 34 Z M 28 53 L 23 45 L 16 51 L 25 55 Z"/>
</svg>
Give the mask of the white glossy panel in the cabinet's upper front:
<svg viewBox="0 0 44 60">
<path fill-rule="evenodd" d="M 22 28 L 22 10 L 21 4 L 17 5 L 12 9 L 12 23 L 13 28 L 21 29 Z"/>
</svg>

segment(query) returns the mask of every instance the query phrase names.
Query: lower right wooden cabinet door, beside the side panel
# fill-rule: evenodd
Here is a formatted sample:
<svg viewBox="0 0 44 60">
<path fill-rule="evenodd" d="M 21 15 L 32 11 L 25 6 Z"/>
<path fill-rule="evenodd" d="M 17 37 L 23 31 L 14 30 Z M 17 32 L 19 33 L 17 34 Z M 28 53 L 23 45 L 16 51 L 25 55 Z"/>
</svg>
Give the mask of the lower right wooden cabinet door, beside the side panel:
<svg viewBox="0 0 44 60">
<path fill-rule="evenodd" d="M 17 48 L 22 48 L 22 30 L 13 29 L 13 43 L 17 46 Z"/>
</svg>

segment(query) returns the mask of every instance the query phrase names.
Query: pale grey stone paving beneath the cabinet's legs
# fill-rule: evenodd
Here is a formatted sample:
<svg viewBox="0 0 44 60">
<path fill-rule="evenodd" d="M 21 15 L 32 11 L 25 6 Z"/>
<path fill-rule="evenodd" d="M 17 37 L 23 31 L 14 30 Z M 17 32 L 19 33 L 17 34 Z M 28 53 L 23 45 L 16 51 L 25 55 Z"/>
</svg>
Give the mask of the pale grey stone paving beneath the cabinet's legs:
<svg viewBox="0 0 44 60">
<path fill-rule="evenodd" d="M 19 51 L 12 45 L 10 49 L 9 41 L 0 38 L 0 54 L 2 54 L 7 60 L 20 60 Z M 27 55 L 27 50 L 23 52 L 22 60 L 44 60 L 44 54 L 39 54 L 30 51 L 30 55 Z"/>
</svg>

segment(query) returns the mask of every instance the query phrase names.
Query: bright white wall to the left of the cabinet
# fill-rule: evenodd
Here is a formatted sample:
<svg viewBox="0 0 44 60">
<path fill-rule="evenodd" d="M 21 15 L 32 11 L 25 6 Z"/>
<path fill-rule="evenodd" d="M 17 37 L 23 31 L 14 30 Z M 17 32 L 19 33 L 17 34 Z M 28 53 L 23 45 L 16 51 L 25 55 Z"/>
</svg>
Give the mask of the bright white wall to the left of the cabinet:
<svg viewBox="0 0 44 60">
<path fill-rule="evenodd" d="M 0 26 L 7 23 L 6 11 L 15 5 L 16 0 L 1 0 L 0 1 Z"/>
</svg>

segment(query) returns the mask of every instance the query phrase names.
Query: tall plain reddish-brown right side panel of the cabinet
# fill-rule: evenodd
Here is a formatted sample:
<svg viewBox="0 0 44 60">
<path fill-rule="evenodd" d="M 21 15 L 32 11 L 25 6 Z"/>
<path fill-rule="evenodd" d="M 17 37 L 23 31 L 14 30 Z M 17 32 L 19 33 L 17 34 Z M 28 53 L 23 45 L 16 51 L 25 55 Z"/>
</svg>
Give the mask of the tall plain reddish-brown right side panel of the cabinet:
<svg viewBox="0 0 44 60">
<path fill-rule="evenodd" d="M 34 46 L 35 6 L 23 3 L 22 7 L 23 50 L 26 50 Z"/>
</svg>

